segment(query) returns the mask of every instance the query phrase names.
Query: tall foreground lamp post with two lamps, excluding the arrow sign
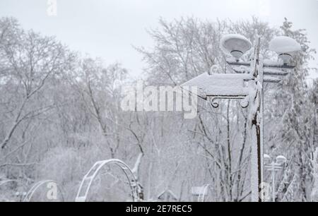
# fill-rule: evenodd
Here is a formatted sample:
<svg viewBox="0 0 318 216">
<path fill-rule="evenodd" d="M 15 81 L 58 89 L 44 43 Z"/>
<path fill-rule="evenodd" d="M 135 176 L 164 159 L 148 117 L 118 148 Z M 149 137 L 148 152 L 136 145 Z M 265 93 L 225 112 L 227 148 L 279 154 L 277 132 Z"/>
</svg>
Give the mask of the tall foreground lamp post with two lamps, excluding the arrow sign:
<svg viewBox="0 0 318 216">
<path fill-rule="evenodd" d="M 229 39 L 231 38 L 231 40 Z M 236 41 L 237 47 L 230 46 L 226 42 Z M 262 198 L 259 196 L 261 194 L 260 185 L 263 179 L 263 121 L 264 121 L 264 83 L 280 83 L 281 79 L 276 76 L 286 76 L 288 75 L 285 71 L 273 70 L 271 68 L 284 68 L 292 69 L 295 66 L 288 65 L 290 59 L 293 55 L 300 51 L 300 44 L 290 37 L 275 37 L 270 42 L 270 49 L 277 52 L 278 56 L 283 59 L 283 64 L 279 63 L 269 63 L 265 64 L 264 59 L 260 56 L 260 41 L 261 38 L 257 37 L 254 43 L 254 56 L 252 56 L 252 61 L 250 62 L 240 62 L 240 59 L 236 61 L 227 61 L 229 65 L 233 66 L 233 70 L 237 73 L 250 73 L 253 78 L 249 80 L 249 87 L 252 91 L 249 92 L 249 106 L 252 107 L 250 116 L 252 118 L 252 200 L 259 200 L 261 202 Z M 249 44 L 248 40 L 244 36 L 240 35 L 226 35 L 220 40 L 220 47 L 223 49 L 225 54 L 231 54 L 235 56 L 235 50 L 240 49 L 244 54 L 244 51 Z M 234 53 L 233 53 L 234 52 Z M 242 71 L 240 68 L 237 69 L 234 66 L 249 66 L 247 71 Z M 283 158 L 282 158 L 283 159 Z M 256 177 L 256 176 L 257 177 Z"/>
</svg>

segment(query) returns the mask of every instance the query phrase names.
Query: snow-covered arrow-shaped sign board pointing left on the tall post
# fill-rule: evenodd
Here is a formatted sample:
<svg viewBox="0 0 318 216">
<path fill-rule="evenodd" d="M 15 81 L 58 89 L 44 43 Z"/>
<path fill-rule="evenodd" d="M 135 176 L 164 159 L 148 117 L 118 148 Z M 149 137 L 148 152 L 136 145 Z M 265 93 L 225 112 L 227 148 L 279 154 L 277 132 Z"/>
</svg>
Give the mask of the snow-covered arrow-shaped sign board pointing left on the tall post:
<svg viewBox="0 0 318 216">
<path fill-rule="evenodd" d="M 251 80 L 250 74 L 212 74 L 203 73 L 181 85 L 181 88 L 189 90 L 198 88 L 198 97 L 208 100 L 208 97 L 246 97 L 249 95 L 245 81 Z M 191 88 L 190 88 L 191 87 Z"/>
</svg>

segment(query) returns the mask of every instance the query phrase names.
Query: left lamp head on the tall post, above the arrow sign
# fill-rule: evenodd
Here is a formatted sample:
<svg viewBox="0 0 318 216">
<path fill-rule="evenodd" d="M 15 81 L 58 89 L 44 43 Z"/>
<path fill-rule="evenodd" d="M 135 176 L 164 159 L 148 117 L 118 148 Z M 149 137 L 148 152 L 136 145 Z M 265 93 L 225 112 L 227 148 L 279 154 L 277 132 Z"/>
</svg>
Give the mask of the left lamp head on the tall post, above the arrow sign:
<svg viewBox="0 0 318 216">
<path fill-rule="evenodd" d="M 225 54 L 240 59 L 245 52 L 252 48 L 252 43 L 242 35 L 225 35 L 220 40 L 220 49 Z"/>
</svg>

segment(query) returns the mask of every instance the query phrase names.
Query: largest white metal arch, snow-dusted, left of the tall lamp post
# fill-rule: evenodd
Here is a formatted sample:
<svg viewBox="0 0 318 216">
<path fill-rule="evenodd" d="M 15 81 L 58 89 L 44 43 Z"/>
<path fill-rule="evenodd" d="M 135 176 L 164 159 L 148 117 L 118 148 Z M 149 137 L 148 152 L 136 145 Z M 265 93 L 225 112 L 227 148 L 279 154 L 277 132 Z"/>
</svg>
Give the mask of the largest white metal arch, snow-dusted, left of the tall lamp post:
<svg viewBox="0 0 318 216">
<path fill-rule="evenodd" d="M 117 165 L 120 169 L 122 169 L 129 181 L 129 186 L 131 188 L 131 198 L 133 202 L 139 201 L 139 186 L 133 172 L 131 171 L 129 166 L 121 160 L 112 159 L 96 162 L 93 167 L 90 168 L 88 173 L 83 177 L 83 180 L 81 181 L 81 186 L 79 187 L 78 193 L 75 198 L 76 202 L 86 202 L 88 192 L 90 191 L 90 186 L 92 185 L 93 180 L 100 172 L 100 169 L 109 164 Z M 131 178 L 129 178 L 129 176 L 131 176 Z M 88 182 L 88 184 L 86 184 L 86 182 Z"/>
</svg>

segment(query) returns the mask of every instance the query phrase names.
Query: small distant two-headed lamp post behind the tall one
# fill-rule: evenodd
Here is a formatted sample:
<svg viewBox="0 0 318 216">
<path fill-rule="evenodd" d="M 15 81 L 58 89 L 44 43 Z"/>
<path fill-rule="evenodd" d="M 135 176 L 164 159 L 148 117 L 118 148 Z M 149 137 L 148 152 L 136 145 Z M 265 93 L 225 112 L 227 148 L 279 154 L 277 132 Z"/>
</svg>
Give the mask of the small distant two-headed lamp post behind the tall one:
<svg viewBox="0 0 318 216">
<path fill-rule="evenodd" d="M 271 161 L 271 157 L 269 155 L 264 155 L 264 161 L 266 162 L 265 164 L 265 168 L 271 172 L 271 184 L 272 184 L 272 188 L 271 188 L 271 192 L 272 192 L 272 199 L 273 202 L 275 202 L 275 174 L 276 172 L 280 171 L 281 169 L 283 169 L 283 164 L 285 164 L 287 162 L 286 157 L 284 156 L 278 156 L 276 157 L 276 162 Z"/>
</svg>

